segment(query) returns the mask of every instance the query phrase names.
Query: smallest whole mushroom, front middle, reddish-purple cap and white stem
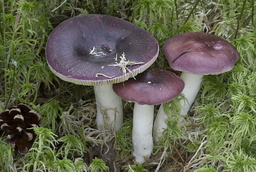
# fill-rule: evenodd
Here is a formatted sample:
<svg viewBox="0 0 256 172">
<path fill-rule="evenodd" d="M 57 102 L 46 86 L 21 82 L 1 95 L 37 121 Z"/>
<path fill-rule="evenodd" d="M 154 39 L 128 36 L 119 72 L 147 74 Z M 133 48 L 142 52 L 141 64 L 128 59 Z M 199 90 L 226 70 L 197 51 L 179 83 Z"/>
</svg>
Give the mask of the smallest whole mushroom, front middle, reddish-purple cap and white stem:
<svg viewBox="0 0 256 172">
<path fill-rule="evenodd" d="M 184 82 L 171 71 L 149 67 L 123 83 L 113 85 L 122 99 L 135 102 L 133 108 L 132 142 L 136 161 L 144 163 L 153 149 L 154 105 L 170 101 L 184 88 Z"/>
</svg>

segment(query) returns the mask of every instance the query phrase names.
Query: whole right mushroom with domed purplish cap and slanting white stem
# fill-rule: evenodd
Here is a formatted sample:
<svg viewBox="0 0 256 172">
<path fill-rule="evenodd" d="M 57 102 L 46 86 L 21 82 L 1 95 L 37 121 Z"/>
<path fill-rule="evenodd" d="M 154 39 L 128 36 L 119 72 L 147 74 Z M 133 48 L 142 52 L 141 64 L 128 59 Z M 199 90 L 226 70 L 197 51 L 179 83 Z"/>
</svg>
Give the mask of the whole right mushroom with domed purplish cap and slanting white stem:
<svg viewBox="0 0 256 172">
<path fill-rule="evenodd" d="M 236 48 L 219 36 L 202 32 L 178 34 L 164 43 L 164 55 L 173 70 L 182 71 L 180 78 L 185 82 L 181 93 L 187 102 L 180 101 L 181 115 L 186 116 L 200 89 L 203 75 L 224 73 L 233 69 L 239 54 Z M 177 58 L 178 57 L 178 58 Z M 176 59 L 177 58 L 177 59 Z M 176 60 L 175 60 L 176 59 Z M 154 141 L 162 135 L 167 116 L 160 106 L 154 123 Z M 180 119 L 182 122 L 183 119 Z"/>
</svg>

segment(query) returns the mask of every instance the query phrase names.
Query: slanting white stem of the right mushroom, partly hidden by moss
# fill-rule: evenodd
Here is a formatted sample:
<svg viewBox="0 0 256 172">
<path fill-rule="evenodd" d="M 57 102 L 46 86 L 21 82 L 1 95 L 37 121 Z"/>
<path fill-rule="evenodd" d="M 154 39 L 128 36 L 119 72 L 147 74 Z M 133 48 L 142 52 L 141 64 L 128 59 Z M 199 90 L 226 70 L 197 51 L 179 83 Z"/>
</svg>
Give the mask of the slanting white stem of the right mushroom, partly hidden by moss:
<svg viewBox="0 0 256 172">
<path fill-rule="evenodd" d="M 180 101 L 180 105 L 183 107 L 181 109 L 180 115 L 186 116 L 190 106 L 194 102 L 196 95 L 198 94 L 198 91 L 200 89 L 201 81 L 204 75 L 196 75 L 188 72 L 182 72 L 180 75 L 180 79 L 182 79 L 185 83 L 185 87 L 181 93 L 185 95 L 188 101 Z M 171 105 L 171 104 L 170 104 Z M 154 122 L 154 142 L 158 142 L 158 138 L 162 136 L 162 132 L 164 131 L 163 128 L 167 127 L 167 124 L 165 123 L 165 120 L 168 118 L 168 116 L 164 113 L 163 104 L 161 104 L 156 119 Z M 183 121 L 183 118 L 180 119 L 180 123 Z"/>
</svg>

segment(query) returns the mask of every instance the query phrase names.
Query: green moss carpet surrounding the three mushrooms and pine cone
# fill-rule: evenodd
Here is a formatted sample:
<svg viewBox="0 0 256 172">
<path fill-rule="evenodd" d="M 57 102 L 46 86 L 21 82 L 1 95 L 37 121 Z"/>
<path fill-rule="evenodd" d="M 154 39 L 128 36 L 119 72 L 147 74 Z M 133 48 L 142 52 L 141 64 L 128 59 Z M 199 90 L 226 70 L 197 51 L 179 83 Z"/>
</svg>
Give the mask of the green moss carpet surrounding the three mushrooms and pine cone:
<svg viewBox="0 0 256 172">
<path fill-rule="evenodd" d="M 21 168 L 27 171 L 92 171 L 92 166 L 87 167 L 79 158 L 84 151 L 89 153 L 89 147 L 104 145 L 109 138 L 115 138 L 110 129 L 93 129 L 96 109 L 92 87 L 77 86 L 57 78 L 45 58 L 45 44 L 53 29 L 49 18 L 88 13 L 112 15 L 148 30 L 156 37 L 160 48 L 154 67 L 171 70 L 162 50 L 163 44 L 173 35 L 184 32 L 218 35 L 230 41 L 240 55 L 231 71 L 203 77 L 196 101 L 183 123 L 177 123 L 182 96 L 164 104 L 169 119 L 161 145 L 154 147 L 151 166 L 130 165 L 134 171 L 155 171 L 160 166 L 161 170 L 182 170 L 183 167 L 163 152 L 169 151 L 177 157 L 173 143 L 185 161 L 195 156 L 189 164 L 191 171 L 256 170 L 255 1 L 27 0 L 1 1 L 0 4 L 0 111 L 18 103 L 29 104 L 41 114 L 46 127 L 35 129 L 36 141 L 25 155 L 14 153 L 1 141 L 0 152 L 7 152 L 0 154 L 2 171 L 8 171 L 14 162 L 17 162 L 17 171 Z M 132 119 L 129 116 L 132 104 L 127 104 L 124 109 L 124 119 L 127 119 L 113 141 L 116 141 L 113 148 L 117 152 L 117 168 L 125 163 L 132 164 L 125 159 L 132 152 Z M 54 150 L 58 139 L 61 150 Z M 75 149 L 81 157 L 69 159 L 67 153 L 74 155 Z M 100 161 L 100 155 L 95 156 L 98 165 L 93 170 L 108 170 Z M 156 167 L 154 164 L 159 163 L 161 157 L 161 164 Z"/>
</svg>

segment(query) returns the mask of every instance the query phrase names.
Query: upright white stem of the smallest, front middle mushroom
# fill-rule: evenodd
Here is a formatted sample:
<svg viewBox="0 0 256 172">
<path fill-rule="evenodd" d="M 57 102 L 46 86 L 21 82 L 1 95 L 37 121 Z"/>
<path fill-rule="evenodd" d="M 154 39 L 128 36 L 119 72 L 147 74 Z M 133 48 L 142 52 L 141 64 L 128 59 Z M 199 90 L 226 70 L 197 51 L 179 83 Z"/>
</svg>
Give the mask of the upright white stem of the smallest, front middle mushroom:
<svg viewBox="0 0 256 172">
<path fill-rule="evenodd" d="M 139 105 L 135 103 L 132 124 L 133 155 L 140 164 L 145 162 L 143 156 L 149 158 L 152 153 L 153 119 L 154 105 Z"/>
</svg>

